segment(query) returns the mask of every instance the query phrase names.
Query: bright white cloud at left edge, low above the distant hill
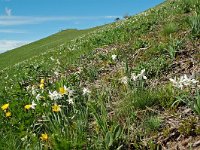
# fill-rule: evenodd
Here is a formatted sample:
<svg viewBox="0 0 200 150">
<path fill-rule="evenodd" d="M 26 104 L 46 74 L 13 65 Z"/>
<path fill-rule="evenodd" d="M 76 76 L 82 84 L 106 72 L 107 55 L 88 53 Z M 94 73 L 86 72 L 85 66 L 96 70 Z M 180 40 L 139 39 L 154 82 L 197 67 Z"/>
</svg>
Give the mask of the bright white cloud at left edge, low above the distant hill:
<svg viewBox="0 0 200 150">
<path fill-rule="evenodd" d="M 0 40 L 0 53 L 28 44 L 30 41 Z"/>
</svg>

